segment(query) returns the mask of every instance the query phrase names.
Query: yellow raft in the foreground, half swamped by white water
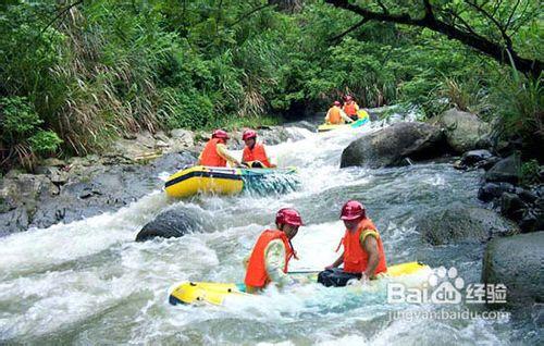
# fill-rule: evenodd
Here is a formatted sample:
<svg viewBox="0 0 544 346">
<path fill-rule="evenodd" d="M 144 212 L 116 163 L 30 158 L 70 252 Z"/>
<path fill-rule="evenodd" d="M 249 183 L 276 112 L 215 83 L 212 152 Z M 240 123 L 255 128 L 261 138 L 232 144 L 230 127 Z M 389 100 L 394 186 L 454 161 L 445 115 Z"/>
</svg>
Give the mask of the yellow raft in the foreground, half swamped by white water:
<svg viewBox="0 0 544 346">
<path fill-rule="evenodd" d="M 419 262 L 407 262 L 387 268 L 387 274 L 383 277 L 398 277 L 413 274 L 429 274 L 431 268 Z M 310 273 L 309 280 L 317 281 L 318 272 Z M 425 277 L 426 279 L 426 277 Z M 381 280 L 381 279 L 379 279 Z M 176 304 L 207 302 L 222 305 L 228 296 L 249 296 L 245 293 L 244 284 L 225 284 L 210 282 L 184 282 L 177 285 L 170 294 L 169 301 Z"/>
</svg>

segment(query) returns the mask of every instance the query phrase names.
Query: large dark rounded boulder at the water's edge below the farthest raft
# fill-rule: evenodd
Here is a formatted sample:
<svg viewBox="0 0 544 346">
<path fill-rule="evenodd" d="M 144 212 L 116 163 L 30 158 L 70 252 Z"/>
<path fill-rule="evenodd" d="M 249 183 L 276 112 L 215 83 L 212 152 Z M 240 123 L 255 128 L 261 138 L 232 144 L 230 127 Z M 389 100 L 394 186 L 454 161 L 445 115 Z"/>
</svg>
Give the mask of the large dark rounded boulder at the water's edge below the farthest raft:
<svg viewBox="0 0 544 346">
<path fill-rule="evenodd" d="M 341 168 L 399 165 L 406 158 L 431 159 L 446 151 L 442 131 L 420 122 L 396 123 L 353 141 L 342 152 Z"/>
</svg>

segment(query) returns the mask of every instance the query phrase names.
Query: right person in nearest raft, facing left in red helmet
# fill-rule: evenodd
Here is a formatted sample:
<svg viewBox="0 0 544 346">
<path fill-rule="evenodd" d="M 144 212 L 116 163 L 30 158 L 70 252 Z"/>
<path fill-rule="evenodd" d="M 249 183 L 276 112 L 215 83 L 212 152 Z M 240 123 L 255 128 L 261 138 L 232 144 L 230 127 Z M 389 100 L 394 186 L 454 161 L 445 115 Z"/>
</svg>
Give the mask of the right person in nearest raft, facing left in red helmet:
<svg viewBox="0 0 544 346">
<path fill-rule="evenodd" d="M 387 271 L 387 264 L 383 251 L 382 239 L 375 225 L 367 218 L 364 206 L 356 200 L 349 200 L 342 208 L 341 219 L 346 226 L 346 233 L 341 242 L 341 245 L 344 245 L 344 252 L 333 264 L 329 265 L 326 270 L 333 275 L 335 272 L 334 269 L 344 263 L 342 272 L 336 270 L 336 273 L 339 273 L 343 279 L 329 283 L 331 285 L 341 286 L 346 285 L 349 279 L 366 281 L 375 279 L 376 275 L 385 273 Z M 326 276 L 326 274 L 321 276 Z M 323 279 L 326 277 L 322 277 L 322 280 Z"/>
</svg>

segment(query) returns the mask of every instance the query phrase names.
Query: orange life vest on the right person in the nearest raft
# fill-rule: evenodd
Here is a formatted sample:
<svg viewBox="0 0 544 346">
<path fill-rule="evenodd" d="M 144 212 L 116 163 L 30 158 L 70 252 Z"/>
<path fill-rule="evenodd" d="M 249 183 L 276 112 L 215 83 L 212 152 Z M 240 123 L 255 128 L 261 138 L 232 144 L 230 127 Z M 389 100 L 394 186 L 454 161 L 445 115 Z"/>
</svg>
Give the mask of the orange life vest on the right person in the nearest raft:
<svg viewBox="0 0 544 346">
<path fill-rule="evenodd" d="M 362 219 L 357 227 L 357 232 L 349 232 L 346 230 L 346 234 L 342 239 L 344 244 L 344 271 L 348 273 L 362 273 L 367 270 L 369 255 L 361 247 L 360 237 L 364 230 L 372 230 L 378 233 L 374 223 L 370 219 Z M 383 251 L 383 244 L 381 237 L 376 237 L 378 251 L 380 254 L 380 261 L 374 271 L 374 275 L 386 272 L 387 264 L 385 261 L 385 254 Z"/>
</svg>

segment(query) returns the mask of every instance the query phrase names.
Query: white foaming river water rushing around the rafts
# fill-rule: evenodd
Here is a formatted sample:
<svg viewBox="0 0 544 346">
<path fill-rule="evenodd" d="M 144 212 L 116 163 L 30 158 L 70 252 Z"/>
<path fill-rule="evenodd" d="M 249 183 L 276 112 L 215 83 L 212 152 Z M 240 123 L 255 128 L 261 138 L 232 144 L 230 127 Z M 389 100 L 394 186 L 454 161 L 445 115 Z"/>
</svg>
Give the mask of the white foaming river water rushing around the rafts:
<svg viewBox="0 0 544 346">
<path fill-rule="evenodd" d="M 300 188 L 269 197 L 196 197 L 169 201 L 157 190 L 114 213 L 0 239 L 0 343 L 190 345 L 458 345 L 532 344 L 531 317 L 489 320 L 392 319 L 398 311 L 430 312 L 430 304 L 386 304 L 385 289 L 353 294 L 317 284 L 274 288 L 225 307 L 171 306 L 181 281 L 242 282 L 242 261 L 275 211 L 295 207 L 306 222 L 294 239 L 292 270 L 330 264 L 343 234 L 338 212 L 359 199 L 376 223 L 388 263 L 419 260 L 456 267 L 479 282 L 483 245 L 433 247 L 415 226 L 424 212 L 452 202 L 479 205 L 480 172 L 448 163 L 369 170 L 339 169 L 339 158 L 364 129 L 316 134 L 270 147 L 280 165 L 299 168 Z M 157 177 L 159 178 L 159 177 Z M 206 233 L 135 243 L 146 222 L 168 208 L 196 213 Z M 460 306 L 457 308 L 466 308 Z M 478 307 L 470 307 L 479 310 Z"/>
</svg>

